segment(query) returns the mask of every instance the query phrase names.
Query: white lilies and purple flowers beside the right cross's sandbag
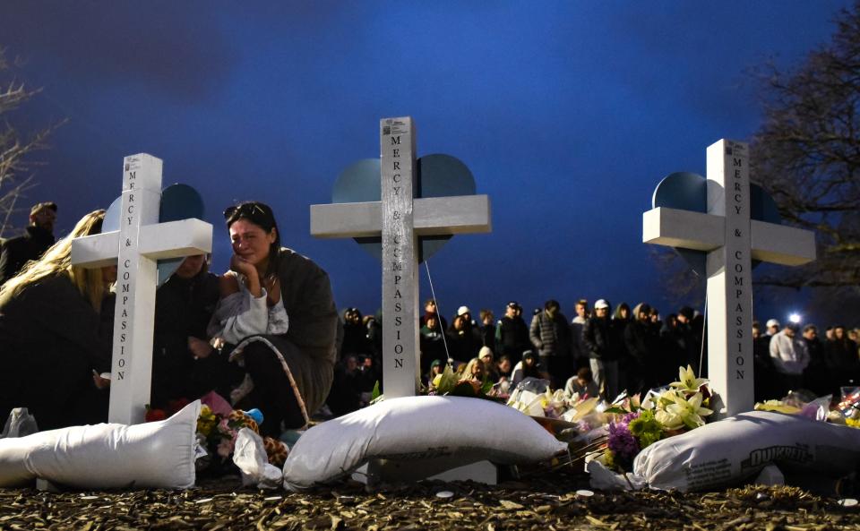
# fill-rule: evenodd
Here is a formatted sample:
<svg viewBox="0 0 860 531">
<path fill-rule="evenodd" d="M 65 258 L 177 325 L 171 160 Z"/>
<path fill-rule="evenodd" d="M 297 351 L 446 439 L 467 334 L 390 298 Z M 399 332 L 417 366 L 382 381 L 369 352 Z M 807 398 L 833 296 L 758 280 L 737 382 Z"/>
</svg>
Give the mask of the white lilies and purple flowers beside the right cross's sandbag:
<svg viewBox="0 0 860 531">
<path fill-rule="evenodd" d="M 601 461 L 619 472 L 632 470 L 633 458 L 651 444 L 705 424 L 713 413 L 708 381 L 696 378 L 692 367 L 680 367 L 678 381 L 661 393 L 649 393 L 640 401 L 638 395 L 606 409 L 614 414 L 609 422 L 609 437 Z"/>
</svg>

